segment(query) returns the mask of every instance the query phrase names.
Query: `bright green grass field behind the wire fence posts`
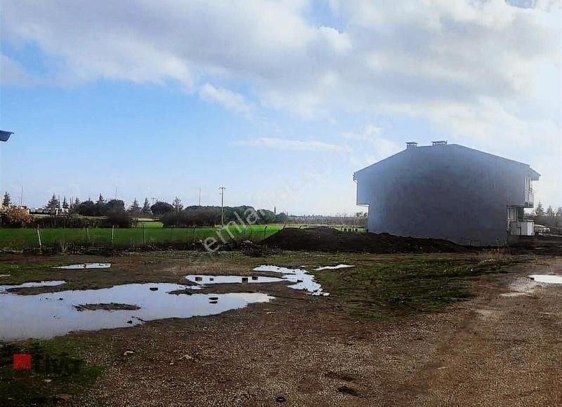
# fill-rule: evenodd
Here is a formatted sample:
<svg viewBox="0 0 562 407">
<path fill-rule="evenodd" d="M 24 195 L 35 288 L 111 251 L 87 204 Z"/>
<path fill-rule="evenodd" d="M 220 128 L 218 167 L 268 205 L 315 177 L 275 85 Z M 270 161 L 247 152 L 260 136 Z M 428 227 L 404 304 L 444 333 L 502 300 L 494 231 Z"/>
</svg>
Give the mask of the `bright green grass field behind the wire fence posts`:
<svg viewBox="0 0 562 407">
<path fill-rule="evenodd" d="M 159 222 L 146 222 L 159 223 Z M 250 239 L 260 241 L 282 229 L 283 225 L 251 225 L 238 230 L 233 226 L 223 231 L 226 241 Z M 89 246 L 115 246 L 121 248 L 142 247 L 144 245 L 164 245 L 166 243 L 191 243 L 207 237 L 218 240 L 219 227 L 164 228 L 157 225 L 132 229 L 74 228 L 41 229 L 41 243 L 44 246 L 64 246 L 80 244 Z M 233 236 L 231 236 L 231 234 Z M 39 236 L 36 229 L 0 229 L 0 248 L 20 250 L 38 248 Z"/>
</svg>

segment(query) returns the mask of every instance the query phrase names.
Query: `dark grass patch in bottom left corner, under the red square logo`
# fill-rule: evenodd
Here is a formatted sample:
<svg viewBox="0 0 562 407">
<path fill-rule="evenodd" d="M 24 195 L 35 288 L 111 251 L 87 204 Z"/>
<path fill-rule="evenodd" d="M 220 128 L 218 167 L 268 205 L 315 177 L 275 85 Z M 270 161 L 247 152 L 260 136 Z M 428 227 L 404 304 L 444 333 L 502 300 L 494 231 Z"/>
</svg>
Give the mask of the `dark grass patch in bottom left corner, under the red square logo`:
<svg viewBox="0 0 562 407">
<path fill-rule="evenodd" d="M 101 373 L 81 359 L 68 338 L 0 343 L 0 405 L 59 405 L 62 394 L 84 392 Z M 14 370 L 13 354 L 31 354 L 31 370 Z"/>
</svg>

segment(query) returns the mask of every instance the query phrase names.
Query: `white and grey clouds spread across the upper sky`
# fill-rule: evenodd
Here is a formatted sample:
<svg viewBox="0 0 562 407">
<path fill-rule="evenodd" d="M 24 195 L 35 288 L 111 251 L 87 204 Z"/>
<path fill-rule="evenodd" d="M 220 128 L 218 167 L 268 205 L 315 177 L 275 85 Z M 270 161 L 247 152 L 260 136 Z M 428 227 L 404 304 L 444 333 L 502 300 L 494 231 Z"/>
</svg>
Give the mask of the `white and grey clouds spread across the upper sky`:
<svg viewBox="0 0 562 407">
<path fill-rule="evenodd" d="M 4 2 L 0 18 L 3 42 L 39 46 L 60 63 L 60 81 L 172 81 L 240 114 L 266 107 L 322 120 L 415 116 L 462 144 L 523 156 L 535 166 L 544 156 L 562 161 L 560 148 L 552 148 L 560 145 L 561 126 L 559 0 L 328 3 L 341 22 L 337 29 L 311 22 L 313 2 L 306 0 L 246 0 L 244 7 L 19 0 Z M 22 77 L 19 68 L 11 72 Z M 251 94 L 212 85 L 236 81 Z M 394 147 L 377 134 L 360 136 L 373 138 L 381 151 Z M 326 148 L 290 142 L 262 138 L 249 145 Z M 544 193 L 556 199 L 561 189 L 552 182 Z"/>
</svg>

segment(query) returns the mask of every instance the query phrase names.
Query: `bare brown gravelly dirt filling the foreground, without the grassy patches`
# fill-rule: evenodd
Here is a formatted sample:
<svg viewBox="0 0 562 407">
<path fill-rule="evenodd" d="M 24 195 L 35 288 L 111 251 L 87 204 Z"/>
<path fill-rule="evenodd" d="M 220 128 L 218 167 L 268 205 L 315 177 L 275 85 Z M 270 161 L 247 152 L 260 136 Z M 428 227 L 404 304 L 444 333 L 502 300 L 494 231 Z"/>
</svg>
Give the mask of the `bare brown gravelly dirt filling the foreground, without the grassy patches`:
<svg viewBox="0 0 562 407">
<path fill-rule="evenodd" d="M 228 258 L 194 265 L 160 256 L 115 263 L 144 265 L 136 277 L 148 281 L 178 282 L 188 272 L 240 274 L 240 264 Z M 260 290 L 275 295 L 273 302 L 73 333 L 84 359 L 105 368 L 72 405 L 560 406 L 562 286 L 533 284 L 527 276 L 562 274 L 562 258 L 508 268 L 476 279 L 471 300 L 384 323 L 353 320 L 337 295 L 311 298 L 267 284 Z M 114 276 L 110 283 L 136 277 Z"/>
</svg>

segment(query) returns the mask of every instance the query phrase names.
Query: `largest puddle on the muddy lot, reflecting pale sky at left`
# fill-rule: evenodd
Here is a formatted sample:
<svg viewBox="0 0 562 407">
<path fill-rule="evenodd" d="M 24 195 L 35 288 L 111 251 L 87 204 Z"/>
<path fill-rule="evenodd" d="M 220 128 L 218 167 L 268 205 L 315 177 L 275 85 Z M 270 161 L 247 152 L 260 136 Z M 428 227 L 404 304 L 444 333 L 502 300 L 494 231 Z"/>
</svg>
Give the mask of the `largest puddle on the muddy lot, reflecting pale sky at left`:
<svg viewBox="0 0 562 407">
<path fill-rule="evenodd" d="M 172 283 L 124 284 L 98 290 L 36 295 L 18 295 L 8 291 L 11 288 L 58 286 L 63 283 L 65 281 L 42 281 L 0 286 L 0 340 L 47 339 L 71 331 L 97 331 L 136 326 L 156 319 L 215 315 L 273 299 L 262 293 L 174 295 L 169 292 L 190 287 Z M 158 290 L 151 291 L 150 288 Z M 91 311 L 82 307 L 79 311 L 75 307 L 112 303 L 133 305 L 140 309 Z"/>
</svg>

